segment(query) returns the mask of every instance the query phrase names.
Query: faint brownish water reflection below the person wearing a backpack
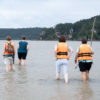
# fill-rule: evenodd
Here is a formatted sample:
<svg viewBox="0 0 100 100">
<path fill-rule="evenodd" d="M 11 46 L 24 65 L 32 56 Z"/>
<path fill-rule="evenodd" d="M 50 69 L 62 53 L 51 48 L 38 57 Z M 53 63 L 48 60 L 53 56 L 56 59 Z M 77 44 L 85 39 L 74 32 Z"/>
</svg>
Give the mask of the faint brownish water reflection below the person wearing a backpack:
<svg viewBox="0 0 100 100">
<path fill-rule="evenodd" d="M 4 74 L 4 92 L 3 92 L 3 100 L 14 100 L 14 96 L 16 95 L 16 87 L 15 87 L 15 79 L 14 73 L 9 72 Z"/>
</svg>

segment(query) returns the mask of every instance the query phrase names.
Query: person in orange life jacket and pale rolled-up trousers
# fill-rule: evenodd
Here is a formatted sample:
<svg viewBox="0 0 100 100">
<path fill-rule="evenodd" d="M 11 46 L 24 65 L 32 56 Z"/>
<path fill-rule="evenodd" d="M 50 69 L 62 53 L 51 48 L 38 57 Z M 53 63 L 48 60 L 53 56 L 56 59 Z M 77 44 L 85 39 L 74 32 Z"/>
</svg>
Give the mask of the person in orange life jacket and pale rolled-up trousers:
<svg viewBox="0 0 100 100">
<path fill-rule="evenodd" d="M 59 43 L 55 47 L 56 79 L 60 78 L 60 70 L 63 68 L 65 83 L 68 83 L 68 60 L 73 52 L 66 44 L 65 36 L 59 37 Z"/>
</svg>

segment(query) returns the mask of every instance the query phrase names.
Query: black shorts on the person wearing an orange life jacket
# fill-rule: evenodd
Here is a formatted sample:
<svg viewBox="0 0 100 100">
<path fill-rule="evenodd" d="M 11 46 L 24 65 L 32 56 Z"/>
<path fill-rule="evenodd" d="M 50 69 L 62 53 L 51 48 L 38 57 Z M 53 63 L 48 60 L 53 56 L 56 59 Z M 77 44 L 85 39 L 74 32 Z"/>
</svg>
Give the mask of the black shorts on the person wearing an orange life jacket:
<svg viewBox="0 0 100 100">
<path fill-rule="evenodd" d="M 81 72 L 89 71 L 91 66 L 92 62 L 79 62 L 79 68 Z"/>
</svg>

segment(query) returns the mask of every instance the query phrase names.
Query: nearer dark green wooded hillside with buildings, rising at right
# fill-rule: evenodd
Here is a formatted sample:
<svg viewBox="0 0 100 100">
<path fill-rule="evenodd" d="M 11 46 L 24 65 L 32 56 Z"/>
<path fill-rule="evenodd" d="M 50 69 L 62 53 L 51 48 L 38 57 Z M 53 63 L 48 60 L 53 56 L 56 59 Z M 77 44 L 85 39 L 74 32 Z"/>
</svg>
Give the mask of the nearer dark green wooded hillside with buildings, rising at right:
<svg viewBox="0 0 100 100">
<path fill-rule="evenodd" d="M 94 40 L 100 40 L 100 16 L 96 17 L 94 27 Z M 65 35 L 68 40 L 80 40 L 82 37 L 91 39 L 94 18 L 80 20 L 76 23 L 57 24 L 54 28 L 44 28 L 41 38 L 44 40 L 57 39 L 59 35 Z"/>
</svg>

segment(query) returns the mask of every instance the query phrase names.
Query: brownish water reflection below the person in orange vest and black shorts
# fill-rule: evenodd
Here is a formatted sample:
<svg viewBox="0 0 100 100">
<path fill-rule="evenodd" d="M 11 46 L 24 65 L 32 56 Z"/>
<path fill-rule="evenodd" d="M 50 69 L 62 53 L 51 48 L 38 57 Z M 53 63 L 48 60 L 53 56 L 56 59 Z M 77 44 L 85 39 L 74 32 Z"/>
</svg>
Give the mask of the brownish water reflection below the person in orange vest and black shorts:
<svg viewBox="0 0 100 100">
<path fill-rule="evenodd" d="M 93 97 L 93 91 L 91 87 L 89 86 L 88 82 L 83 82 L 81 87 L 78 89 L 77 93 L 77 100 L 91 100 Z"/>
</svg>

